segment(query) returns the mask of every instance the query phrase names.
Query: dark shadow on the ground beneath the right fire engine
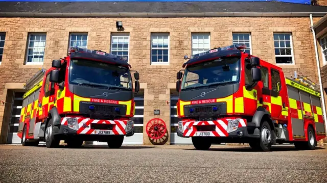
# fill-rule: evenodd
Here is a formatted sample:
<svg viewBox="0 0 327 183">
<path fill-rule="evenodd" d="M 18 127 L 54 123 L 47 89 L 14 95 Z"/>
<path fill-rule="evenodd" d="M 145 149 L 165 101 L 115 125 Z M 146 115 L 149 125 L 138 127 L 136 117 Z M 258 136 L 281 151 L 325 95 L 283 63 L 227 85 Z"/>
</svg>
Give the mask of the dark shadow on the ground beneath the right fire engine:
<svg viewBox="0 0 327 183">
<path fill-rule="evenodd" d="M 324 148 L 316 147 L 315 150 L 317 149 L 324 149 Z M 197 150 L 197 149 L 192 148 L 192 149 L 184 149 L 184 150 Z M 207 151 L 258 152 L 252 149 L 251 147 L 223 147 L 223 148 L 211 147 Z M 274 151 L 303 151 L 303 150 L 295 149 L 294 146 L 272 146 L 270 151 L 274 152 Z"/>
</svg>

